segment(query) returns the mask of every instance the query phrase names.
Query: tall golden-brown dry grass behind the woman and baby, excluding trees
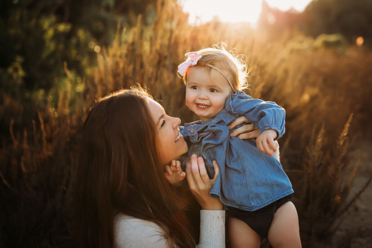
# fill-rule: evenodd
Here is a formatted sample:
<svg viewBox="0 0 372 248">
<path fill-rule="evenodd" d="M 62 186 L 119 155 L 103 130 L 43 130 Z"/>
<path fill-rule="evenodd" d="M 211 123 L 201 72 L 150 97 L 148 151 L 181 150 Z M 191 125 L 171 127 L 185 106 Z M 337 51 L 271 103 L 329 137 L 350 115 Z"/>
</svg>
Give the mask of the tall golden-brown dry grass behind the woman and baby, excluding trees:
<svg viewBox="0 0 372 248">
<path fill-rule="evenodd" d="M 349 194 L 358 167 L 357 158 L 348 156 L 350 133 L 367 133 L 371 120 L 372 52 L 355 46 L 294 50 L 288 40 L 271 41 L 247 25 L 190 26 L 175 1 L 158 0 L 156 8 L 161 15 L 151 26 L 143 26 L 141 16 L 134 28 L 118 24 L 115 40 L 97 55 L 97 67 L 83 78 L 81 92 L 75 92 L 76 76 L 65 65 L 63 86 L 38 103 L 42 107 L 35 109 L 32 129 L 10 125 L 11 142 L 4 139 L 0 149 L 1 246 L 73 246 L 71 174 L 93 99 L 138 83 L 162 101 L 169 115 L 195 120 L 184 104 L 177 65 L 186 52 L 219 41 L 246 55 L 251 84 L 246 93 L 286 109 L 281 161 L 294 185 L 303 246 L 329 239 L 371 181 Z M 22 113 L 22 103 L 2 97 L 9 104 L 1 106 L 1 113 L 14 108 Z"/>
</svg>

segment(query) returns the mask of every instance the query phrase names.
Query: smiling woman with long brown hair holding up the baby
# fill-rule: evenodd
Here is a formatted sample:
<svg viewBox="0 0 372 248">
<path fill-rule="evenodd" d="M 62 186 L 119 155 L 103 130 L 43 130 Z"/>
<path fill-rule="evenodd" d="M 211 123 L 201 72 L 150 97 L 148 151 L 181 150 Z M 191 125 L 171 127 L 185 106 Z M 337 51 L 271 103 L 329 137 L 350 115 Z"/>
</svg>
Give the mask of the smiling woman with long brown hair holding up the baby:
<svg viewBox="0 0 372 248">
<path fill-rule="evenodd" d="M 185 202 L 164 176 L 164 166 L 187 151 L 179 124 L 141 88 L 112 93 L 92 108 L 75 178 L 80 247 L 195 247 Z M 217 177 L 217 164 L 215 171 Z M 209 196 L 215 178 L 196 156 L 186 177 L 203 209 L 199 246 L 224 247 L 225 213 Z"/>
</svg>

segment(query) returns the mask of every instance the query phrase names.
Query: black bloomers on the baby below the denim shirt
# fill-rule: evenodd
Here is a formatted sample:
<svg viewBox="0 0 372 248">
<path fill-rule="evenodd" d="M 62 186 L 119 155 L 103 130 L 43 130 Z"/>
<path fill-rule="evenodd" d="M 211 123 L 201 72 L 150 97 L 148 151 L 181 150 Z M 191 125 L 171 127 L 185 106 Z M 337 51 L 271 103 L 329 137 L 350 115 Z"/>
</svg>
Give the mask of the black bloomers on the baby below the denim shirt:
<svg viewBox="0 0 372 248">
<path fill-rule="evenodd" d="M 247 225 L 257 232 L 262 238 L 267 238 L 267 232 L 271 226 L 271 222 L 274 219 L 274 213 L 284 203 L 291 202 L 292 194 L 280 198 L 269 205 L 260 208 L 256 211 L 245 211 L 235 207 L 228 207 L 227 214 L 230 217 L 244 221 Z"/>
</svg>

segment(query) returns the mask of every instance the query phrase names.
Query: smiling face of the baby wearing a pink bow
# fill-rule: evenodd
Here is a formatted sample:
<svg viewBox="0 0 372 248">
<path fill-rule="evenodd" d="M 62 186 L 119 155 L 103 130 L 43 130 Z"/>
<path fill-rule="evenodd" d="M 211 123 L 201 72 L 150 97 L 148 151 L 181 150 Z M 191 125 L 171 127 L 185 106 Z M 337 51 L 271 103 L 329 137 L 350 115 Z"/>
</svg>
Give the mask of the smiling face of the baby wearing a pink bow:
<svg viewBox="0 0 372 248">
<path fill-rule="evenodd" d="M 221 70 L 221 69 L 220 69 Z M 221 70 L 225 75 L 227 71 Z M 202 122 L 215 117 L 225 107 L 232 89 L 226 78 L 209 67 L 192 66 L 187 72 L 186 104 Z"/>
</svg>

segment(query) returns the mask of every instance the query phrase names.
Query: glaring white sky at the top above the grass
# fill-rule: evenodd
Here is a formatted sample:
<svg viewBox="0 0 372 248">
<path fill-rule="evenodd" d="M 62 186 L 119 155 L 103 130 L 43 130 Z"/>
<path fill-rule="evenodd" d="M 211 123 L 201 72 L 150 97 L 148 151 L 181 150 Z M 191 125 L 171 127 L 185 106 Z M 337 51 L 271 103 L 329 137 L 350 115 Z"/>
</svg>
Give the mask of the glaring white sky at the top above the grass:
<svg viewBox="0 0 372 248">
<path fill-rule="evenodd" d="M 270 7 L 280 10 L 302 11 L 311 0 L 266 0 Z M 262 0 L 179 0 L 184 12 L 189 12 L 189 22 L 195 23 L 198 16 L 202 22 L 208 22 L 218 16 L 222 22 L 255 23 L 261 12 Z"/>
</svg>

